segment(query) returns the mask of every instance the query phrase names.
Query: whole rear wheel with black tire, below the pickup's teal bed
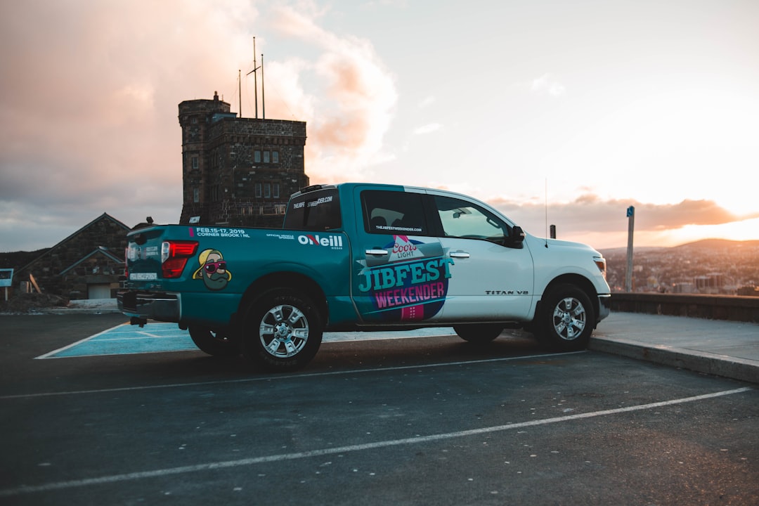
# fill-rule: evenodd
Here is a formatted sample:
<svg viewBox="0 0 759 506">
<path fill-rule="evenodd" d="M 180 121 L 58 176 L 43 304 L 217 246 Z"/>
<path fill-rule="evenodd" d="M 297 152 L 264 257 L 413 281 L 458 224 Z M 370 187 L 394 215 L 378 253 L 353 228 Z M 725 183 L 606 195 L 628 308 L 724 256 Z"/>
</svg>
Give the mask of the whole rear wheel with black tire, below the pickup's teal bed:
<svg viewBox="0 0 759 506">
<path fill-rule="evenodd" d="M 322 321 L 308 297 L 276 289 L 250 304 L 240 330 L 243 357 L 271 372 L 301 369 L 322 344 Z"/>
</svg>

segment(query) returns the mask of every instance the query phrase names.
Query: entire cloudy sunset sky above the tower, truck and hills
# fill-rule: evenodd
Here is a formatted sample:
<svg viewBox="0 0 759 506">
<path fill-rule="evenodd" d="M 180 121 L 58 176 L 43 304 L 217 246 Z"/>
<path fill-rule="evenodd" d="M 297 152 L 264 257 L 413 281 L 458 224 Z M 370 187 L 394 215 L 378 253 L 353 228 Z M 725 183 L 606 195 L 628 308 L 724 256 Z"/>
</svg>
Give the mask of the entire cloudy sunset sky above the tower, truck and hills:
<svg viewBox="0 0 759 506">
<path fill-rule="evenodd" d="M 177 222 L 178 104 L 252 117 L 254 37 L 314 184 L 443 187 L 597 248 L 628 206 L 636 246 L 759 239 L 757 27 L 755 0 L 0 0 L 0 251 Z"/>
</svg>

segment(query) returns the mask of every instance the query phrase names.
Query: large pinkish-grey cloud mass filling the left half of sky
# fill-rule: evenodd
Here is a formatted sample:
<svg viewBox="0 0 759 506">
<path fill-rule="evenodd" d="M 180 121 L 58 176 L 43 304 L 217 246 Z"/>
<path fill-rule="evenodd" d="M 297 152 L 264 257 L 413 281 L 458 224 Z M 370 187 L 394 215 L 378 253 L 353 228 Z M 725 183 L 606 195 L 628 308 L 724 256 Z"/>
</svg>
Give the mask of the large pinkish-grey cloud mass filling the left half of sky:
<svg viewBox="0 0 759 506">
<path fill-rule="evenodd" d="M 383 159 L 397 100 L 392 74 L 367 40 L 320 27 L 324 11 L 313 2 L 264 12 L 242 0 L 223 8 L 167 0 L 31 1 L 8 9 L 0 20 L 6 69 L 0 73 L 0 237 L 31 217 L 36 225 L 27 232 L 47 230 L 38 230 L 43 237 L 34 247 L 54 244 L 102 212 L 130 226 L 146 214 L 175 222 L 178 104 L 210 99 L 218 90 L 239 112 L 237 69 L 244 75 L 249 60 L 252 65 L 251 33 L 262 23 L 309 48 L 307 58 L 267 59 L 265 78 L 266 117 L 307 121 L 312 180 L 366 178 L 363 168 Z M 258 42 L 258 49 L 267 47 L 265 36 Z M 253 82 L 251 76 L 242 83 L 251 96 Z M 251 117 L 247 94 L 243 105 Z M 261 101 L 259 108 L 262 113 Z M 0 250 L 14 248 L 2 243 Z"/>
</svg>

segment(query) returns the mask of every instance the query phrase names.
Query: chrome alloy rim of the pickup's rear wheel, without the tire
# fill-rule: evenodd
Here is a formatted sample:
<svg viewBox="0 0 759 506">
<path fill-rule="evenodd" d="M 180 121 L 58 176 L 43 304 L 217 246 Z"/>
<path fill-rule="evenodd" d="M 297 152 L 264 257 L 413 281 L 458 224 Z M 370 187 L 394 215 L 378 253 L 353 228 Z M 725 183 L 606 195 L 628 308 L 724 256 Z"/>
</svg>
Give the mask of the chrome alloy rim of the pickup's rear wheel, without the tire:
<svg viewBox="0 0 759 506">
<path fill-rule="evenodd" d="M 308 341 L 308 319 L 295 306 L 282 304 L 267 311 L 258 329 L 258 335 L 272 357 L 286 358 L 297 355 Z"/>
</svg>

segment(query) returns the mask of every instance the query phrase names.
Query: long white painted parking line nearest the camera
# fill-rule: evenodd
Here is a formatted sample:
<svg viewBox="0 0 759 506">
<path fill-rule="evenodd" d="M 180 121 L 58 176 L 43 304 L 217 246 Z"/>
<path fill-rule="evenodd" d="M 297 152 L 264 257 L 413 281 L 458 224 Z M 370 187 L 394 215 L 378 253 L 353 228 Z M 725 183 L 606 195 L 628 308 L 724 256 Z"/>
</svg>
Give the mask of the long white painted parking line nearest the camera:
<svg viewBox="0 0 759 506">
<path fill-rule="evenodd" d="M 102 485 L 103 483 L 115 483 L 115 482 L 127 482 L 137 479 L 159 478 L 162 476 L 171 476 L 184 473 L 197 473 L 198 471 L 209 471 L 218 469 L 227 469 L 230 467 L 244 467 L 254 464 L 266 464 L 271 462 L 283 462 L 285 460 L 298 460 L 310 457 L 322 457 L 324 455 L 342 454 L 349 451 L 366 451 L 374 450 L 376 448 L 389 448 L 392 446 L 400 445 L 418 445 L 420 443 L 427 443 L 433 441 L 441 441 L 444 439 L 462 438 L 469 435 L 487 434 L 490 432 L 503 432 L 512 429 L 522 429 L 524 427 L 540 426 L 549 423 L 561 423 L 572 420 L 581 420 L 584 418 L 593 418 L 596 416 L 609 416 L 619 413 L 629 413 L 631 411 L 650 410 L 657 407 L 672 406 L 672 404 L 684 404 L 687 402 L 704 401 L 706 399 L 723 397 L 725 395 L 740 394 L 745 391 L 750 391 L 750 387 L 735 388 L 735 390 L 724 390 L 714 392 L 712 394 L 696 395 L 694 397 L 686 397 L 679 399 L 672 399 L 670 401 L 653 402 L 650 404 L 639 404 L 638 406 L 619 407 L 613 410 L 600 410 L 591 413 L 578 413 L 569 416 L 556 416 L 554 418 L 546 418 L 544 420 L 531 420 L 529 422 L 522 423 L 509 423 L 507 425 L 483 427 L 481 429 L 462 430 L 458 432 L 446 432 L 444 434 L 432 434 L 418 436 L 414 438 L 403 439 L 389 439 L 387 441 L 378 441 L 373 443 L 364 443 L 362 445 L 348 445 L 339 448 L 321 448 L 318 450 L 310 451 L 298 451 L 290 454 L 278 454 L 278 455 L 266 455 L 263 457 L 250 457 L 238 460 L 223 460 L 221 462 L 208 462 L 205 464 L 196 464 L 194 466 L 181 466 L 181 467 L 168 467 L 165 469 L 156 469 L 150 471 L 140 471 L 137 473 L 124 473 L 124 474 L 112 474 L 110 476 L 99 476 L 97 478 L 87 479 L 73 479 L 65 482 L 52 482 L 45 485 L 37 486 L 25 486 L 17 489 L 5 489 L 0 490 L 0 497 L 12 497 L 14 495 L 30 494 L 33 492 L 48 492 L 51 490 L 60 489 L 74 489 L 77 487 Z"/>
</svg>

